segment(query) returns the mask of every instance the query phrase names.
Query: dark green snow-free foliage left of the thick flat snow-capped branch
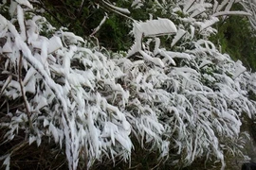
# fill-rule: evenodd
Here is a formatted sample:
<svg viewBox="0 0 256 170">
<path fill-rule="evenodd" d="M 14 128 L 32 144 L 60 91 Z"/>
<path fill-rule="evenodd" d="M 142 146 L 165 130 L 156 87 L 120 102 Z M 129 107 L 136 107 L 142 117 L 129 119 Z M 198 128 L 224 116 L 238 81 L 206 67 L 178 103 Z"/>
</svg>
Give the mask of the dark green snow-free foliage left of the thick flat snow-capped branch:
<svg viewBox="0 0 256 170">
<path fill-rule="evenodd" d="M 119 7 L 129 7 L 128 2 L 117 1 Z M 89 39 L 93 34 L 100 45 L 112 51 L 127 50 L 131 46 L 131 37 L 127 36 L 130 28 L 127 18 L 117 14 L 101 1 L 46 1 L 41 4 L 46 12 L 44 15 L 48 21 L 56 27 L 67 27 L 69 31 Z M 100 31 L 94 34 L 94 29 L 100 25 L 101 20 L 107 15 L 106 22 Z M 131 23 L 131 22 L 130 22 Z M 130 26 L 131 27 L 131 26 Z M 113 41 L 115 40 L 115 41 Z"/>
</svg>

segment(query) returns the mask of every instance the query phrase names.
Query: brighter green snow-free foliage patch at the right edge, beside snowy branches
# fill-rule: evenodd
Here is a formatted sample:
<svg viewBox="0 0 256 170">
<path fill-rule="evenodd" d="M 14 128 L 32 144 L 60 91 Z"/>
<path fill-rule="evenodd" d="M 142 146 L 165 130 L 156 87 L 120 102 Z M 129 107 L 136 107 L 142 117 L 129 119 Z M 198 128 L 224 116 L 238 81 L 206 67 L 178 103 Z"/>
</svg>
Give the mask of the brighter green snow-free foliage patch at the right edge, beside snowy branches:
<svg viewBox="0 0 256 170">
<path fill-rule="evenodd" d="M 241 8 L 235 5 L 234 8 Z M 240 59 L 247 69 L 256 71 L 256 31 L 251 28 L 246 16 L 229 16 L 216 25 L 218 33 L 210 41 L 218 44 L 223 53 L 232 59 Z"/>
</svg>

